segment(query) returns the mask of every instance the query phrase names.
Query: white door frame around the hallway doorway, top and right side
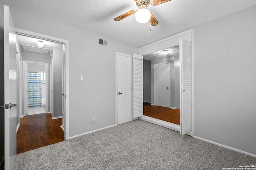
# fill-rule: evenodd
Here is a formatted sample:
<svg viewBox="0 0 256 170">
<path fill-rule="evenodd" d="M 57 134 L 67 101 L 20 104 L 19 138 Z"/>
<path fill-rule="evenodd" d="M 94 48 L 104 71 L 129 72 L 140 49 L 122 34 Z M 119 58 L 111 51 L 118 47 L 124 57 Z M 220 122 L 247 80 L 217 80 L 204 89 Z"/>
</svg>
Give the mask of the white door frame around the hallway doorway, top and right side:
<svg viewBox="0 0 256 170">
<path fill-rule="evenodd" d="M 66 75 L 66 115 L 65 115 L 65 131 L 64 131 L 64 139 L 68 140 L 69 137 L 69 41 L 65 39 L 60 39 L 56 37 L 52 37 L 49 35 L 44 35 L 40 33 L 35 33 L 32 31 L 26 31 L 24 29 L 13 29 L 11 30 L 13 32 L 16 32 L 19 35 L 29 36 L 29 37 L 35 37 L 38 39 L 45 39 L 47 41 L 53 41 L 56 43 L 61 43 L 65 45 L 65 68 L 66 72 L 63 73 Z"/>
</svg>

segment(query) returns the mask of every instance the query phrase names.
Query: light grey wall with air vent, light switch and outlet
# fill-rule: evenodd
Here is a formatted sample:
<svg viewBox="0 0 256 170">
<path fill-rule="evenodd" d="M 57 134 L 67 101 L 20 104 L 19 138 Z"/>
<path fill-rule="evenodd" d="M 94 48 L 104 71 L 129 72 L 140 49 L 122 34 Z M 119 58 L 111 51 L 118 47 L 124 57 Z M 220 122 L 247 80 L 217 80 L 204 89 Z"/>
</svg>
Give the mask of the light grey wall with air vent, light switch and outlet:
<svg viewBox="0 0 256 170">
<path fill-rule="evenodd" d="M 138 54 L 138 48 L 18 8 L 10 10 L 17 28 L 69 41 L 70 137 L 114 125 L 116 52 Z M 98 37 L 107 39 L 108 47 L 97 45 Z"/>
</svg>

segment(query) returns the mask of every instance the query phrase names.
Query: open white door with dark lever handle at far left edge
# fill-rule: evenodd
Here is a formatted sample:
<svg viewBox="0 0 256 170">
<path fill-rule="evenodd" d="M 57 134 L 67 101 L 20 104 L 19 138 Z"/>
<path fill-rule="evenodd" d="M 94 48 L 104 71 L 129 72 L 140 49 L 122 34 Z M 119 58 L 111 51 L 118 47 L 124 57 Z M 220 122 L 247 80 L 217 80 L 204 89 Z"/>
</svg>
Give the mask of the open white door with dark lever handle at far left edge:
<svg viewBox="0 0 256 170">
<path fill-rule="evenodd" d="M 17 64 L 16 34 L 11 33 L 14 27 L 8 6 L 4 6 L 4 166 L 13 169 L 16 158 L 16 126 L 17 126 Z"/>
</svg>

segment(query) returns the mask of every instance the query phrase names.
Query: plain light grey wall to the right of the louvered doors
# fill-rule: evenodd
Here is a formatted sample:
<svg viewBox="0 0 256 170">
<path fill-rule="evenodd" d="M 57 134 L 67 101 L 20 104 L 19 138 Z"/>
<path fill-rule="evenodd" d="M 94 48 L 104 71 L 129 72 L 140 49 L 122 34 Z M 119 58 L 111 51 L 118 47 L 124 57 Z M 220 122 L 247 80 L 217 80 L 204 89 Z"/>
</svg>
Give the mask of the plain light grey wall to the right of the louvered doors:
<svg viewBox="0 0 256 170">
<path fill-rule="evenodd" d="M 256 154 L 256 6 L 194 27 L 194 135 Z"/>
</svg>

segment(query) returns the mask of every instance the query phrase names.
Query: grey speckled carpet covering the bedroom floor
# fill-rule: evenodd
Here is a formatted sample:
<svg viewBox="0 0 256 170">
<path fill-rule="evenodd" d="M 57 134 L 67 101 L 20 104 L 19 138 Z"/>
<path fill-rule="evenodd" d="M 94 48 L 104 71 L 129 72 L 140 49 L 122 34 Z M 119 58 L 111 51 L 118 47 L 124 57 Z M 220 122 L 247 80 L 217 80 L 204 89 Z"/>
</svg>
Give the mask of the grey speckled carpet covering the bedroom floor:
<svg viewBox="0 0 256 170">
<path fill-rule="evenodd" d="M 256 158 L 142 120 L 16 156 L 16 170 L 221 170 Z"/>
</svg>

